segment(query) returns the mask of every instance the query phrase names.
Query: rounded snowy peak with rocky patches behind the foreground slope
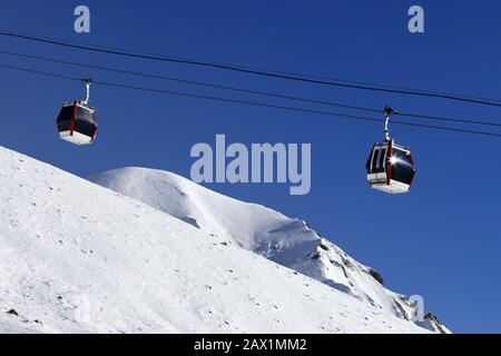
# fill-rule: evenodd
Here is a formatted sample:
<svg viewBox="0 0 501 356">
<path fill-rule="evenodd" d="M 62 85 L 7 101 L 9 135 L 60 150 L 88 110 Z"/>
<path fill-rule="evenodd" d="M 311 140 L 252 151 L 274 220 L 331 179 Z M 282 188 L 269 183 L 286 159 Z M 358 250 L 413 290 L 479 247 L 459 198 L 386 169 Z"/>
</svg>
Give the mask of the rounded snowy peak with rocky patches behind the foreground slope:
<svg viewBox="0 0 501 356">
<path fill-rule="evenodd" d="M 167 171 L 124 168 L 90 180 L 322 281 L 376 310 L 403 320 L 411 320 L 416 313 L 409 297 L 384 288 L 375 269 L 357 263 L 305 221 L 223 196 Z M 432 314 L 419 325 L 448 332 Z"/>
</svg>

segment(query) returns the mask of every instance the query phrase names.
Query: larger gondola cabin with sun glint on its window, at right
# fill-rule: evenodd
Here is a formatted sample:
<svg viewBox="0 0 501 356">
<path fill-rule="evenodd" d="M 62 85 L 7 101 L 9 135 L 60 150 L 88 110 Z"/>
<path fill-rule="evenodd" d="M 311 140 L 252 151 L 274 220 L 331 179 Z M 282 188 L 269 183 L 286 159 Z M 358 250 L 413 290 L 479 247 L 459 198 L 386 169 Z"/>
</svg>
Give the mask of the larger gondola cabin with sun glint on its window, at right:
<svg viewBox="0 0 501 356">
<path fill-rule="evenodd" d="M 365 168 L 372 188 L 389 194 L 402 194 L 411 189 L 415 166 L 411 149 L 396 145 L 390 137 L 390 116 L 394 113 L 396 112 L 392 108 L 384 108 L 384 142 L 374 144 Z"/>
</svg>

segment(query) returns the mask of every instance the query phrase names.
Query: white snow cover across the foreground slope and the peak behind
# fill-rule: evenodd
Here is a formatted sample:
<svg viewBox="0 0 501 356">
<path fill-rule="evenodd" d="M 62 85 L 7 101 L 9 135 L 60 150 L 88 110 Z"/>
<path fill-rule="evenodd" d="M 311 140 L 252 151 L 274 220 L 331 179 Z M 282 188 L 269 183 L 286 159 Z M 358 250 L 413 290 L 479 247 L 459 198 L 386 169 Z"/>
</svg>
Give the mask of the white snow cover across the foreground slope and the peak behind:
<svg viewBox="0 0 501 356">
<path fill-rule="evenodd" d="M 1 147 L 0 167 L 0 333 L 429 332 L 302 221 L 166 172 L 100 179 L 168 198 L 160 211 Z M 294 257 L 320 241 L 318 258 Z M 315 280 L 331 276 L 328 258 L 352 264 L 345 290 Z"/>
</svg>

